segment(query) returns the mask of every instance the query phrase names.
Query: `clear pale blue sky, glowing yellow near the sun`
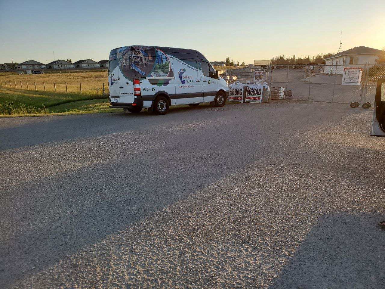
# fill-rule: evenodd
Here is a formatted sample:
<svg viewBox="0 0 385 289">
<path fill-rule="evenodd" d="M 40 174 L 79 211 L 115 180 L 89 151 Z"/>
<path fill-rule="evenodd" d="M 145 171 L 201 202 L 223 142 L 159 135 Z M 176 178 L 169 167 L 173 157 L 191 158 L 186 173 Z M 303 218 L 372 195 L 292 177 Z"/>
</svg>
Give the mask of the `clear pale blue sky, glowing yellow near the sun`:
<svg viewBox="0 0 385 289">
<path fill-rule="evenodd" d="M 385 46 L 384 0 L 0 0 L 0 63 L 107 59 L 154 45 L 239 63 Z"/>
</svg>

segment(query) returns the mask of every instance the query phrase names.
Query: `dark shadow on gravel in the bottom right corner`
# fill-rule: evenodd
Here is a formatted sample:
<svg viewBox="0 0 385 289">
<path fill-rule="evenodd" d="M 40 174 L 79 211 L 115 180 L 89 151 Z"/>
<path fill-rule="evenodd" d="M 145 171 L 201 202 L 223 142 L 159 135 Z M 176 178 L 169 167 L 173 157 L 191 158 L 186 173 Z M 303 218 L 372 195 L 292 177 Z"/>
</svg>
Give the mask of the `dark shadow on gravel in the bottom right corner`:
<svg viewBox="0 0 385 289">
<path fill-rule="evenodd" d="M 380 213 L 326 214 L 275 279 L 278 288 L 385 288 Z"/>
</svg>

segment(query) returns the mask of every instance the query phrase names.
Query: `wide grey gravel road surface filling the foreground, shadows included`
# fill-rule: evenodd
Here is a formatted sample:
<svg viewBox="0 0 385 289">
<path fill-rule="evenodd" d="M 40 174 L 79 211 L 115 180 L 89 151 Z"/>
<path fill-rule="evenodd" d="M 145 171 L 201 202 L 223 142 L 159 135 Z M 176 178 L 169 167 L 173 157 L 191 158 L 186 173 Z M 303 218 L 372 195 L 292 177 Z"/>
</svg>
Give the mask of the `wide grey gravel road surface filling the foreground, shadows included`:
<svg viewBox="0 0 385 289">
<path fill-rule="evenodd" d="M 1 288 L 384 288 L 372 109 L 0 119 Z"/>
</svg>

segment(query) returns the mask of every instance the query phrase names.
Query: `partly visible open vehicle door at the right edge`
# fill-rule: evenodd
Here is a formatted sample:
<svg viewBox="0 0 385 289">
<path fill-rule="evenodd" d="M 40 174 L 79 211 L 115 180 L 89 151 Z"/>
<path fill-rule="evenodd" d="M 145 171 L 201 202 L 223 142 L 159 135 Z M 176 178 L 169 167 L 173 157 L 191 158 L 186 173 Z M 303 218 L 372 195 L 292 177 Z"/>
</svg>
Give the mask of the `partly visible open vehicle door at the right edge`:
<svg viewBox="0 0 385 289">
<path fill-rule="evenodd" d="M 385 136 L 385 79 L 378 79 L 374 101 L 371 136 Z"/>
</svg>

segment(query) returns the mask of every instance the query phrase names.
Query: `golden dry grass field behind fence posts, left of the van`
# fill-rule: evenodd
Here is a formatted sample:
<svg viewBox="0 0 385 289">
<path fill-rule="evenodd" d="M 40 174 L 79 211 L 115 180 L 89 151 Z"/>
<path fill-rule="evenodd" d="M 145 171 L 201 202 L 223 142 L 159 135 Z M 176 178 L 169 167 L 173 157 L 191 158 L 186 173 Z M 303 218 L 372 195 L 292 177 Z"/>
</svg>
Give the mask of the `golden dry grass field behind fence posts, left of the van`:
<svg viewBox="0 0 385 289">
<path fill-rule="evenodd" d="M 56 85 L 56 92 L 66 92 L 65 82 L 67 82 L 68 92 L 80 92 L 81 82 L 82 92 L 98 92 L 99 94 L 102 92 L 104 83 L 105 92 L 108 95 L 107 71 L 61 74 L 21 74 L 13 76 L 5 76 L 5 74 L 0 75 L 0 87 L 2 88 L 12 87 L 23 90 L 27 90 L 28 88 L 28 90 L 34 91 L 36 83 L 37 91 L 55 91 L 54 82 Z"/>
</svg>

